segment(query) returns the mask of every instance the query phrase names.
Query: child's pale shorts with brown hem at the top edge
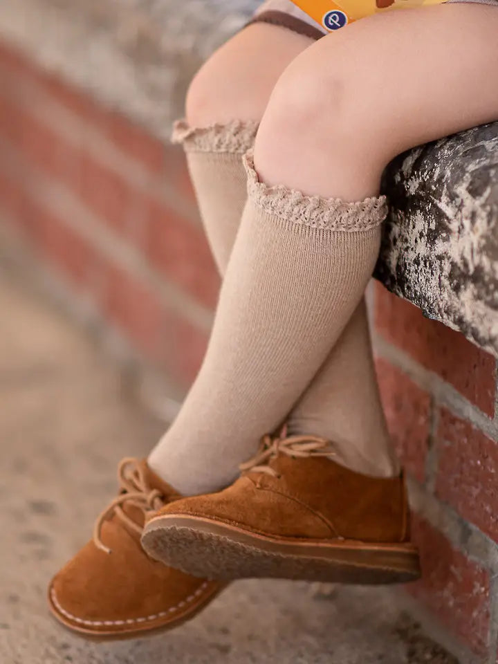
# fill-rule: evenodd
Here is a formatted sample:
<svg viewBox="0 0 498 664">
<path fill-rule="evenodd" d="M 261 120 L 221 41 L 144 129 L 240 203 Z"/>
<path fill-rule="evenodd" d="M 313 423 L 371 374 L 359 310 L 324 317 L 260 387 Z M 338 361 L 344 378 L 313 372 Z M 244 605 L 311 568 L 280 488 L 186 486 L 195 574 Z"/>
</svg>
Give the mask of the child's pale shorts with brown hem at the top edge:
<svg viewBox="0 0 498 664">
<path fill-rule="evenodd" d="M 340 5 L 340 0 L 335 0 Z M 377 0 L 378 3 L 379 0 Z M 381 0 L 382 1 L 382 0 Z M 470 2 L 483 5 L 495 5 L 498 0 L 446 0 L 447 2 Z M 397 3 L 403 0 L 396 0 Z M 413 4 L 413 3 L 412 3 Z M 420 2 L 421 4 L 421 2 Z M 378 5 L 385 6 L 385 5 Z M 328 34 L 319 23 L 314 21 L 302 9 L 299 9 L 291 0 L 265 0 L 256 10 L 251 23 L 270 23 L 275 26 L 289 28 L 299 35 L 306 35 L 312 39 L 320 39 Z"/>
</svg>

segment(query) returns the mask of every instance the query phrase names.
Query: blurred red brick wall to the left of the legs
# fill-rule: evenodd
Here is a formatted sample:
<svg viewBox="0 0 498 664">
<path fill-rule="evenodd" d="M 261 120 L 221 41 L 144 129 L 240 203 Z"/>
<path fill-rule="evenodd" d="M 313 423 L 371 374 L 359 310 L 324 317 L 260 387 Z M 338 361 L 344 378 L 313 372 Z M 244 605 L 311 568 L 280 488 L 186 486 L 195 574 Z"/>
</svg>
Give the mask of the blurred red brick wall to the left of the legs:
<svg viewBox="0 0 498 664">
<path fill-rule="evenodd" d="M 219 279 L 181 150 L 0 46 L 0 210 L 93 313 L 189 385 Z"/>
</svg>

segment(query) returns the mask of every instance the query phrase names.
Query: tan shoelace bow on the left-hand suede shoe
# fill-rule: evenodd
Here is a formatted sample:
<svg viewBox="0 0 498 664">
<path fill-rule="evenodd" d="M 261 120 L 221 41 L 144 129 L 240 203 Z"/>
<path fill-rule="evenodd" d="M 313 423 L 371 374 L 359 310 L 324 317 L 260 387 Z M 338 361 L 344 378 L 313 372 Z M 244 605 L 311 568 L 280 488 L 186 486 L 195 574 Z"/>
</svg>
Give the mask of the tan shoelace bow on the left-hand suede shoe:
<svg viewBox="0 0 498 664">
<path fill-rule="evenodd" d="M 144 477 L 144 470 L 137 459 L 127 458 L 120 461 L 118 482 L 121 488 L 120 494 L 111 500 L 104 511 L 98 515 L 93 526 L 93 542 L 97 548 L 105 551 L 105 553 L 111 553 L 111 549 L 102 542 L 102 525 L 113 514 L 116 514 L 131 530 L 139 535 L 142 533 L 143 528 L 124 512 L 124 504 L 142 510 L 144 516 L 148 512 L 160 509 L 165 504 L 161 492 L 148 486 Z"/>
</svg>

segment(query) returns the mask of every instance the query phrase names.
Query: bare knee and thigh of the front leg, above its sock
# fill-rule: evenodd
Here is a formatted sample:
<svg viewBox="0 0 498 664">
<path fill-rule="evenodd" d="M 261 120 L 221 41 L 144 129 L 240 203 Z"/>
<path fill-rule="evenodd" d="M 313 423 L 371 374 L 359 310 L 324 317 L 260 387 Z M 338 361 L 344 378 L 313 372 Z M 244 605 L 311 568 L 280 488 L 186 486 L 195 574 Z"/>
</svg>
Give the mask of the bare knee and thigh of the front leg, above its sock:
<svg viewBox="0 0 498 664">
<path fill-rule="evenodd" d="M 396 154 L 498 118 L 497 31 L 497 8 L 452 3 L 324 37 L 275 86 L 255 145 L 259 176 L 345 201 L 378 195 Z"/>
</svg>

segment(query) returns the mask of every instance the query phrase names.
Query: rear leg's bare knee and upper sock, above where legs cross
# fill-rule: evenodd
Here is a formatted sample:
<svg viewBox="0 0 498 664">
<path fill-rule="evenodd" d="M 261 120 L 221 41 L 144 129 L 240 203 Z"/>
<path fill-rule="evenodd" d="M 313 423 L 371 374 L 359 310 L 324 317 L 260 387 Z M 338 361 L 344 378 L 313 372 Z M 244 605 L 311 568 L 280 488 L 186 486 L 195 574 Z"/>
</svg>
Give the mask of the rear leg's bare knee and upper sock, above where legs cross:
<svg viewBox="0 0 498 664">
<path fill-rule="evenodd" d="M 183 143 L 205 232 L 220 273 L 225 272 L 247 198 L 243 154 L 286 66 L 313 44 L 268 24 L 248 26 L 221 46 L 190 84 Z M 255 75 L 257 73 L 257 75 Z"/>
</svg>

